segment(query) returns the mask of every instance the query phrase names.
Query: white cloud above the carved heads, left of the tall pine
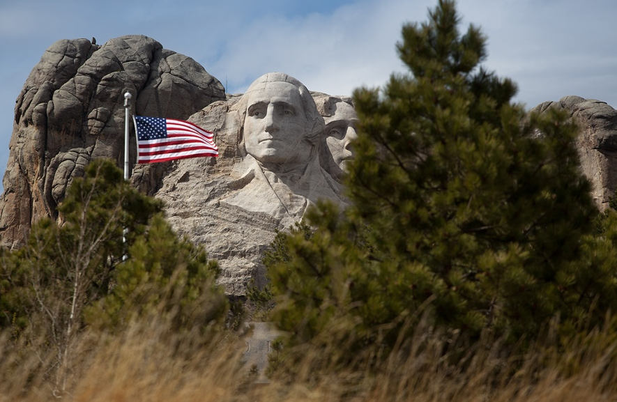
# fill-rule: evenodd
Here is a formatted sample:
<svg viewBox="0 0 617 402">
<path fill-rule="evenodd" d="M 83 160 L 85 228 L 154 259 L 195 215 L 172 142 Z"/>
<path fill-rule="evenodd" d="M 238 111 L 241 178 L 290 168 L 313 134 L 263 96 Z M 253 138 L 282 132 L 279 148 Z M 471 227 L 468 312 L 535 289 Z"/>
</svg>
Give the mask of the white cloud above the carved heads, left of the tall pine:
<svg viewBox="0 0 617 402">
<path fill-rule="evenodd" d="M 327 93 L 351 94 L 361 85 L 381 86 L 390 72 L 401 69 L 395 43 L 414 10 L 425 15 L 421 4 L 360 1 L 330 15 L 266 15 L 231 33 L 220 59 L 206 70 L 222 81 L 226 75 L 231 91 L 239 92 L 271 71 L 287 72 L 309 89 Z"/>
</svg>

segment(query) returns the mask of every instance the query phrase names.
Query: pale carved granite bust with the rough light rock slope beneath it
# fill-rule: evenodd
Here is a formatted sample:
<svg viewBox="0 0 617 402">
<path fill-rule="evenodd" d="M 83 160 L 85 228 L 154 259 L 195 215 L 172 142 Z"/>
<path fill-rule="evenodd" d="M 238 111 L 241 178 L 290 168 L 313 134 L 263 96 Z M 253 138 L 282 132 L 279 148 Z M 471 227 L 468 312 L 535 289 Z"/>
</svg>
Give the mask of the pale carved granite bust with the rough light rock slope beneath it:
<svg viewBox="0 0 617 402">
<path fill-rule="evenodd" d="M 346 127 L 335 131 L 338 141 L 349 142 L 344 137 L 356 135 L 349 122 L 355 115 L 337 109 L 340 98 L 319 96 L 333 103 L 328 121 Z M 334 126 L 302 84 L 280 73 L 260 77 L 244 95 L 214 102 L 190 121 L 214 133 L 220 156 L 172 162 L 158 190 L 141 179 L 142 166 L 132 183 L 165 201 L 174 228 L 219 261 L 227 293 L 243 295 L 246 286 L 265 284 L 261 258 L 277 229 L 300 221 L 319 199 L 345 203 L 340 183 L 320 164 L 332 131 L 326 128 Z"/>
</svg>

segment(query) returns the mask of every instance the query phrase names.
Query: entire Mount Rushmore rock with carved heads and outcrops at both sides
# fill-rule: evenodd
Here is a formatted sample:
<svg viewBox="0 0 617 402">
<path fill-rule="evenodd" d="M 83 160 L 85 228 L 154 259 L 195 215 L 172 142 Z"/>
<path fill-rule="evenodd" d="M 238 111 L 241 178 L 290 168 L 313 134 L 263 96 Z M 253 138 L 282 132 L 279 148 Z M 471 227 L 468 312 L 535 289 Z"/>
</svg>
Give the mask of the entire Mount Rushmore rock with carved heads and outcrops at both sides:
<svg viewBox="0 0 617 402">
<path fill-rule="evenodd" d="M 135 164 L 131 184 L 165 201 L 176 231 L 208 250 L 230 295 L 263 284 L 261 257 L 276 230 L 289 228 L 318 199 L 344 205 L 345 164 L 357 116 L 349 96 L 310 92 L 269 72 L 242 95 L 226 94 L 196 61 L 146 36 L 96 45 L 59 40 L 33 68 L 17 97 L 0 197 L 0 242 L 20 247 L 96 157 L 123 166 L 123 94 L 131 112 L 188 120 L 213 132 L 220 156 Z M 533 110 L 566 109 L 581 125 L 581 169 L 605 208 L 617 187 L 617 111 L 566 96 Z"/>
</svg>

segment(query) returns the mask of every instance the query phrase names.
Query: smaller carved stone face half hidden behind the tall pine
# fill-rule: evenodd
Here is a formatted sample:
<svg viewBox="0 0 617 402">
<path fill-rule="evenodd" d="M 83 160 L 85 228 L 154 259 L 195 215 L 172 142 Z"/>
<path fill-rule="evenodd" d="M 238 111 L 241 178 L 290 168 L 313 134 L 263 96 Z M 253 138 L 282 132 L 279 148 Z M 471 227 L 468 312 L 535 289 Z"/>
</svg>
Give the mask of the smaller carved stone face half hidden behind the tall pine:
<svg viewBox="0 0 617 402">
<path fill-rule="evenodd" d="M 349 144 L 358 137 L 356 123 L 358 114 L 346 102 L 337 102 L 333 116 L 326 117 L 326 146 L 336 165 L 330 166 L 329 170 L 334 176 L 340 176 L 353 157 Z"/>
</svg>

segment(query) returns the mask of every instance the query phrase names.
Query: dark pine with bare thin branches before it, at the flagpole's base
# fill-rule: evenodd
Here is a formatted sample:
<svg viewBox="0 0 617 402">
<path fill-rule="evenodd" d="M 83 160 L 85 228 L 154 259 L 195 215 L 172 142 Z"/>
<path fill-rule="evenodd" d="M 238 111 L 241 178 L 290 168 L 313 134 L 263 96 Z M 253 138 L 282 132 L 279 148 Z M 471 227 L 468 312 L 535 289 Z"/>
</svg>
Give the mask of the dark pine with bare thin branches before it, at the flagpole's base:
<svg viewBox="0 0 617 402">
<path fill-rule="evenodd" d="M 40 219 L 26 245 L 6 254 L 6 284 L 21 298 L 13 304 L 13 315 L 23 318 L 41 313 L 51 321 L 52 329 L 79 320 L 87 300 L 107 293 L 112 272 L 126 249 L 143 235 L 148 221 L 161 208 L 160 201 L 139 194 L 124 182 L 122 172 L 111 161 L 91 163 L 85 177 L 74 180 L 59 206 L 62 224 Z M 22 291 L 16 292 L 16 288 Z M 3 321 L 3 325 L 9 323 Z"/>
</svg>

